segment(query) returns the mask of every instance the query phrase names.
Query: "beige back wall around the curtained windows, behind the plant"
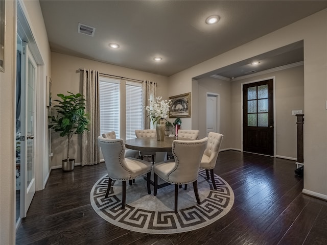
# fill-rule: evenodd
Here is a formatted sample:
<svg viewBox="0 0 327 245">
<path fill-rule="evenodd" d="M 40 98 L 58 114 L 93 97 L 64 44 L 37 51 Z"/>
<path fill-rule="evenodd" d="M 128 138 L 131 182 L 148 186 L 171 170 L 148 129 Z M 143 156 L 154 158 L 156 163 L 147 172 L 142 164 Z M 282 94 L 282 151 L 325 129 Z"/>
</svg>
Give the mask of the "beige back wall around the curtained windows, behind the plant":
<svg viewBox="0 0 327 245">
<path fill-rule="evenodd" d="M 59 53 L 51 53 L 52 59 L 52 98 L 57 99 L 58 93 L 66 93 L 67 91 L 82 93 L 82 72 L 81 69 L 94 69 L 103 74 L 120 76 L 125 78 L 133 78 L 137 80 L 150 80 L 157 82 L 157 95 L 162 96 L 163 99 L 168 99 L 168 77 L 151 74 L 148 72 L 129 69 L 121 66 L 110 65 L 98 61 L 82 59 L 75 56 L 68 56 Z M 53 110 L 53 109 L 52 109 Z M 123 130 L 123 127 L 121 127 Z M 121 132 L 121 136 L 125 135 Z M 71 158 L 75 158 L 76 163 L 81 162 L 80 144 L 81 136 L 74 135 L 72 139 Z M 51 160 L 52 166 L 61 166 L 61 160 L 65 159 L 66 155 L 66 138 L 59 137 L 57 133 L 52 133 L 52 152 L 53 157 Z"/>
</svg>

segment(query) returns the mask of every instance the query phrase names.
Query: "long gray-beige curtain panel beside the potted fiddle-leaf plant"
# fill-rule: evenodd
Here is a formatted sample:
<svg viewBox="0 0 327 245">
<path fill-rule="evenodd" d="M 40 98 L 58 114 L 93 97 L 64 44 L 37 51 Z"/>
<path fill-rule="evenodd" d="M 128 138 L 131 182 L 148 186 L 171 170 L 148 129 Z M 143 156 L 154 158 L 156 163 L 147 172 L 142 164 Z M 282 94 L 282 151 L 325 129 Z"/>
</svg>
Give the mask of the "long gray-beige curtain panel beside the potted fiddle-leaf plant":
<svg viewBox="0 0 327 245">
<path fill-rule="evenodd" d="M 82 134 L 82 166 L 100 163 L 98 136 L 100 135 L 99 71 L 83 70 L 83 95 L 89 115 L 89 131 Z"/>
</svg>

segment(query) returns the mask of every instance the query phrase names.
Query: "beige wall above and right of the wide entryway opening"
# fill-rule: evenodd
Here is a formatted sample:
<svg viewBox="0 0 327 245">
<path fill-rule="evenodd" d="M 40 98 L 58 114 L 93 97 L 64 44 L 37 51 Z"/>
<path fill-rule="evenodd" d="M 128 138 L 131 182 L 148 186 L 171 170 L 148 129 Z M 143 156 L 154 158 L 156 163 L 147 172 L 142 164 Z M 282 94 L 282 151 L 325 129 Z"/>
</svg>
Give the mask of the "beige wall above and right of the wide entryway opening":
<svg viewBox="0 0 327 245">
<path fill-rule="evenodd" d="M 304 189 L 303 192 L 327 199 L 327 9 L 289 26 L 234 48 L 169 78 L 170 93 L 174 85 L 193 87 L 192 78 L 300 40 L 304 41 Z M 178 91 L 182 86 L 177 86 Z M 182 91 L 187 92 L 187 91 Z M 192 90 L 193 92 L 193 90 Z M 232 101 L 235 98 L 232 95 Z M 193 105 L 194 100 L 192 102 Z M 232 110 L 237 109 L 232 104 Z M 239 109 L 240 110 L 240 109 Z M 233 116 L 232 116 L 233 120 Z M 192 127 L 192 120 L 189 121 Z M 237 143 L 237 142 L 236 142 Z"/>
</svg>

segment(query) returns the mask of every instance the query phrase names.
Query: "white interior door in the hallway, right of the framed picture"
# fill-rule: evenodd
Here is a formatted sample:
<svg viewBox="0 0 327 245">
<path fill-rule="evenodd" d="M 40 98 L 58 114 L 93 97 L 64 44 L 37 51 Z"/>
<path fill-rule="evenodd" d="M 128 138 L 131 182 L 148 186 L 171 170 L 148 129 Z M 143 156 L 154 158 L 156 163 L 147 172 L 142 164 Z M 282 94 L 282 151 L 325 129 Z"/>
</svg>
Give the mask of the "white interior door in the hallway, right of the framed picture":
<svg viewBox="0 0 327 245">
<path fill-rule="evenodd" d="M 219 131 L 219 97 L 218 94 L 206 95 L 206 135 L 209 132 Z"/>
</svg>

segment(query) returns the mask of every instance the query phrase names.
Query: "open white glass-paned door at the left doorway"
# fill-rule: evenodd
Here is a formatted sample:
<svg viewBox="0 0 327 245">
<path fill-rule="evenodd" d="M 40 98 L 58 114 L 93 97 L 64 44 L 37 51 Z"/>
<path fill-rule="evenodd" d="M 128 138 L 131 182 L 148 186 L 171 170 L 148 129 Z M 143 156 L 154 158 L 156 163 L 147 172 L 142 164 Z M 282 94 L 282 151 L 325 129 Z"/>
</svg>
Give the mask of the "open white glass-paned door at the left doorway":
<svg viewBox="0 0 327 245">
<path fill-rule="evenodd" d="M 35 193 L 36 62 L 26 42 L 21 56 L 20 217 L 26 217 Z"/>
</svg>

